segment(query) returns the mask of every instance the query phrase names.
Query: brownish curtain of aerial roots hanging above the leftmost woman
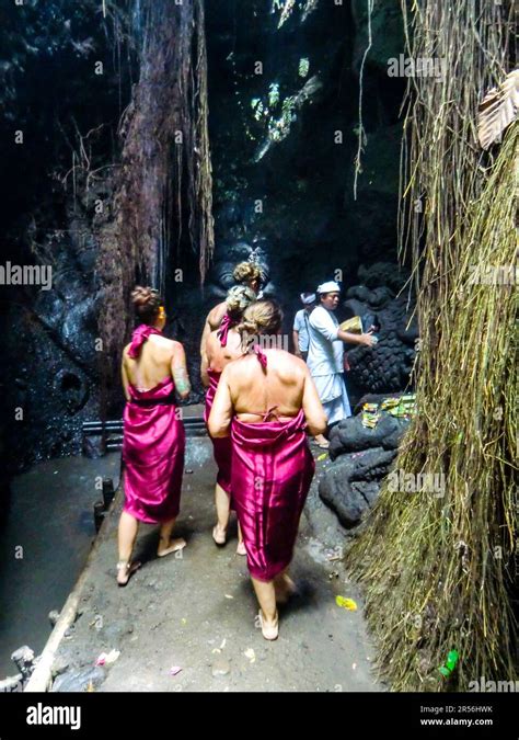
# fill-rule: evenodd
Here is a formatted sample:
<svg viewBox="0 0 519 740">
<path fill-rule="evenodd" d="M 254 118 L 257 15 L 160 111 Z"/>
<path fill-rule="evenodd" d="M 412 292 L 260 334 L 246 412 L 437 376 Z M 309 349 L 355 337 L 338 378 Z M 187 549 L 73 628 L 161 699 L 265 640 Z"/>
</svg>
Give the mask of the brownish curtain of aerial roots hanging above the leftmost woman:
<svg viewBox="0 0 519 740">
<path fill-rule="evenodd" d="M 163 291 L 172 258 L 191 242 L 204 282 L 214 249 L 204 2 L 143 0 L 139 11 L 139 81 L 119 125 L 112 207 L 97 221 L 108 386 L 131 329 L 136 280 Z"/>
</svg>

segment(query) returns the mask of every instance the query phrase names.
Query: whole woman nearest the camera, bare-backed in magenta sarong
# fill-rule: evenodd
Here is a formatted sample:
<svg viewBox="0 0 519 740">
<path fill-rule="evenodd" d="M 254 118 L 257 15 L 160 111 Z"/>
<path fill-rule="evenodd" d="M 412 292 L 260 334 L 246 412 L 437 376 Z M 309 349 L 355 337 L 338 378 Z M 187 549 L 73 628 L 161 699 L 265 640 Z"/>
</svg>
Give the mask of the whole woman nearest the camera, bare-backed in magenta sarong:
<svg viewBox="0 0 519 740">
<path fill-rule="evenodd" d="M 305 429 L 313 436 L 326 429 L 305 363 L 284 350 L 260 346 L 277 344 L 272 339 L 278 339 L 281 320 L 280 309 L 269 300 L 245 310 L 239 331 L 249 345 L 254 337 L 258 344 L 226 366 L 209 417 L 211 436 L 231 433 L 232 499 L 262 633 L 269 640 L 278 636 L 276 602 L 295 590 L 287 569 L 314 473 Z"/>
</svg>

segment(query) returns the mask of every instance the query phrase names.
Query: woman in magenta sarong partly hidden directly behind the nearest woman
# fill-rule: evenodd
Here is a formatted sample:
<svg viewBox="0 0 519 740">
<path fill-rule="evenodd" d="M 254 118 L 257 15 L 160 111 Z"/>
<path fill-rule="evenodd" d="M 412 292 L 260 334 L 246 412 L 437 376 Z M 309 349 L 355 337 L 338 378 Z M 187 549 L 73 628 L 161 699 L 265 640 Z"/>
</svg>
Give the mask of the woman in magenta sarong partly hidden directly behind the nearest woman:
<svg viewBox="0 0 519 740">
<path fill-rule="evenodd" d="M 207 424 L 211 412 L 212 401 L 218 388 L 221 373 L 232 360 L 243 355 L 242 340 L 235 330 L 243 316 L 243 311 L 256 299 L 256 294 L 245 285 L 232 287 L 226 298 L 227 312 L 220 328 L 211 331 L 206 339 L 200 374 L 201 382 L 207 388 L 204 419 Z M 217 524 L 212 528 L 212 538 L 217 545 L 224 545 L 231 513 L 231 437 L 215 440 L 211 437 L 215 462 L 218 466 L 218 476 L 215 487 L 215 502 Z M 245 555 L 240 525 L 238 525 L 238 555 Z"/>
</svg>

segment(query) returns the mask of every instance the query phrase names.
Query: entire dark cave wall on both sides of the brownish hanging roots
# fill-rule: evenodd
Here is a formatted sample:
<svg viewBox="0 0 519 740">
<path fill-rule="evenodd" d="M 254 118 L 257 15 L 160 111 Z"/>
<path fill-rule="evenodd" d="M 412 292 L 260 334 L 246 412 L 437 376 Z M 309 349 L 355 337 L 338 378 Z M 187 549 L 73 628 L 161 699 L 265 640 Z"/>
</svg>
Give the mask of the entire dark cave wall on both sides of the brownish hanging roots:
<svg viewBox="0 0 519 740">
<path fill-rule="evenodd" d="M 51 263 L 56 277 L 49 292 L 0 289 L 5 338 L 0 444 L 11 466 L 79 452 L 81 421 L 100 415 L 103 356 L 95 352 L 99 243 L 93 223 L 111 217 L 96 208 L 100 202 L 109 207 L 120 153 L 117 127 L 138 79 L 130 43 L 136 29 L 124 13 L 130 4 L 108 2 L 106 20 L 94 0 L 81 7 L 32 0 L 22 14 L 14 5 L 1 10 L 5 55 L 0 73 L 7 84 L 0 153 L 10 173 L 1 184 L 3 262 Z M 166 333 L 186 346 L 193 400 L 203 397 L 203 319 L 229 287 L 233 263 L 255 250 L 268 273 L 267 293 L 287 311 L 288 329 L 302 289 L 335 270 L 343 271 L 348 288 L 362 282 L 360 265 L 395 262 L 404 82 L 388 77 L 387 58 L 403 48 L 400 2 L 376 2 L 374 43 L 364 76 L 367 146 L 357 201 L 353 173 L 365 3 L 313 4 L 303 20 L 305 3 L 297 2 L 278 29 L 280 11 L 272 13 L 269 1 L 206 2 L 215 262 L 200 292 L 197 254 L 184 243 L 172 244 L 165 275 Z M 301 59 L 308 59 L 307 72 Z M 103 76 L 93 72 L 97 60 L 104 64 Z M 254 73 L 257 61 L 263 75 Z M 270 98 L 269 104 L 272 84 L 279 86 L 279 100 Z M 282 101 L 290 98 L 293 107 L 282 118 Z M 289 124 L 282 140 L 268 145 L 267 118 L 257 115 L 253 100 L 269 109 L 272 119 Z M 23 147 L 12 143 L 13 128 L 26 132 Z M 342 144 L 334 144 L 337 130 Z M 380 387 L 377 372 L 370 372 Z M 387 379 L 391 385 L 390 375 Z M 122 389 L 108 391 L 114 413 L 120 412 Z M 14 422 L 13 409 L 20 406 L 26 413 L 23 422 Z"/>
</svg>

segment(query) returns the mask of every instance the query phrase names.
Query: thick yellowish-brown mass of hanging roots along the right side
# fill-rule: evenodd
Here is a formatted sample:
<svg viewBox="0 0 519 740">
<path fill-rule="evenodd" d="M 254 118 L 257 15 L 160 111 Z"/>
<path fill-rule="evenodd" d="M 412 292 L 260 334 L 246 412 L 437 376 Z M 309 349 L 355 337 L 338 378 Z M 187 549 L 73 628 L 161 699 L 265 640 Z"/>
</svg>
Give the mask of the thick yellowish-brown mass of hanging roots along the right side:
<svg viewBox="0 0 519 740">
<path fill-rule="evenodd" d="M 402 244 L 412 247 L 422 352 L 418 415 L 395 469 L 443 476 L 445 487 L 413 493 L 385 481 L 347 555 L 393 691 L 466 691 L 483 676 L 517 676 L 519 128 L 508 130 L 495 161 L 483 159 L 477 99 L 505 69 L 506 8 L 488 4 L 476 18 L 475 4 L 416 2 L 410 47 L 413 56 L 442 57 L 447 76 L 441 84 L 412 81 L 406 118 L 411 208 Z M 423 213 L 414 213 L 417 200 Z M 438 669 L 453 650 L 459 662 L 443 675 Z"/>
</svg>

